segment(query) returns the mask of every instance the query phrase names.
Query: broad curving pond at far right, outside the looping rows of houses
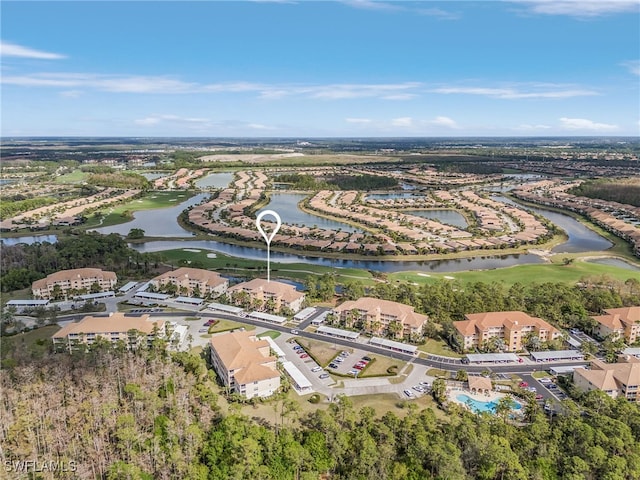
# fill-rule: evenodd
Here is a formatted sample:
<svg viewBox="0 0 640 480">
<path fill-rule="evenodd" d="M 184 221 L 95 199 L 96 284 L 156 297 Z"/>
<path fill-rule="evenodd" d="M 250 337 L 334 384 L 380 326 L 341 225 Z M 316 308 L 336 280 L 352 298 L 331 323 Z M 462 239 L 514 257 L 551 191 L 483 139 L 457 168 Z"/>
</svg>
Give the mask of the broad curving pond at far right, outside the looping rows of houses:
<svg viewBox="0 0 640 480">
<path fill-rule="evenodd" d="M 519 208 L 531 210 L 553 222 L 568 235 L 569 239 L 551 249 L 554 253 L 579 253 L 607 250 L 613 244 L 593 230 L 587 228 L 570 215 L 554 212 L 542 207 L 530 207 L 522 205 L 502 195 L 493 195 L 491 198 L 499 202 L 515 205 Z"/>
</svg>

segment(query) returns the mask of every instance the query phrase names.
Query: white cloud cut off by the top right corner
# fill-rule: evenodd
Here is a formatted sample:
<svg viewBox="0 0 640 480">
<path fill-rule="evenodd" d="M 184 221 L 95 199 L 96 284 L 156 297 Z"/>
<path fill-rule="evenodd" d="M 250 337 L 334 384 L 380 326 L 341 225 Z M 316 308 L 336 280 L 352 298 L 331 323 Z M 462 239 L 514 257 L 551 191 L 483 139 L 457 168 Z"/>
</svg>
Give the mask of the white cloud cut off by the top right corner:
<svg viewBox="0 0 640 480">
<path fill-rule="evenodd" d="M 530 12 L 543 15 L 598 17 L 614 13 L 637 13 L 638 0 L 511 0 L 527 6 Z"/>
</svg>

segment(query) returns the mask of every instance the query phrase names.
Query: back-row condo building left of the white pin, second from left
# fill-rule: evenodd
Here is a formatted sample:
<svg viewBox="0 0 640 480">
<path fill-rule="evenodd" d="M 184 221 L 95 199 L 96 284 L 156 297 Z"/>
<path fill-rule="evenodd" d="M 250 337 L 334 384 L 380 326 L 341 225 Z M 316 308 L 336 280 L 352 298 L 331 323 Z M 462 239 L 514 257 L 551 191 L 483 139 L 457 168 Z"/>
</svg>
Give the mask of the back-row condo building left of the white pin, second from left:
<svg viewBox="0 0 640 480">
<path fill-rule="evenodd" d="M 173 285 L 176 288 L 176 293 L 196 297 L 207 295 L 217 297 L 225 293 L 229 287 L 229 280 L 221 277 L 218 273 L 189 267 L 165 272 L 152 279 L 150 283 L 156 289 Z"/>
</svg>

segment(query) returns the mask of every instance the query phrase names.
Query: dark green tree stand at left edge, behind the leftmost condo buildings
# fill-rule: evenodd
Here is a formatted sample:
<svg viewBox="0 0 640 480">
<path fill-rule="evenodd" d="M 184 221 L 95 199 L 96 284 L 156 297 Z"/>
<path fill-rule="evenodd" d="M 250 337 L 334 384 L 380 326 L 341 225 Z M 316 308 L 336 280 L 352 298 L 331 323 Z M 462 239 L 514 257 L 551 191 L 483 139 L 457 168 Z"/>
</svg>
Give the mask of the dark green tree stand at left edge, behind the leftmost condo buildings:
<svg viewBox="0 0 640 480">
<path fill-rule="evenodd" d="M 3 292 L 31 286 L 58 270 L 96 267 L 119 275 L 149 271 L 157 256 L 141 254 L 128 247 L 117 234 L 80 233 L 62 237 L 57 243 L 18 244 L 2 247 L 0 284 Z"/>
</svg>

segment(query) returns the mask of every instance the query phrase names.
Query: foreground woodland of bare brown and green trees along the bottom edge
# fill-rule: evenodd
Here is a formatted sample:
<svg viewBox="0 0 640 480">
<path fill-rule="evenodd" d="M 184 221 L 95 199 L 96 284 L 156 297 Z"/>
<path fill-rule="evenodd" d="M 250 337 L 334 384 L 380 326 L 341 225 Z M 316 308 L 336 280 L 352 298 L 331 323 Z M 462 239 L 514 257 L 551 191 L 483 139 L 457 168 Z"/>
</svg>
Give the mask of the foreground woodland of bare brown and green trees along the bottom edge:
<svg viewBox="0 0 640 480">
<path fill-rule="evenodd" d="M 521 424 L 457 405 L 445 405 L 444 420 L 412 405 L 377 416 L 348 397 L 304 415 L 276 398 L 267 422 L 234 405 L 223 414 L 203 361 L 161 352 L 18 352 L 0 371 L 3 460 L 77 464 L 44 479 L 640 478 L 640 408 L 601 392 L 552 418 L 527 404 Z"/>
</svg>

